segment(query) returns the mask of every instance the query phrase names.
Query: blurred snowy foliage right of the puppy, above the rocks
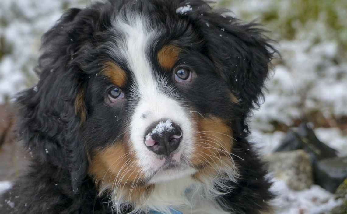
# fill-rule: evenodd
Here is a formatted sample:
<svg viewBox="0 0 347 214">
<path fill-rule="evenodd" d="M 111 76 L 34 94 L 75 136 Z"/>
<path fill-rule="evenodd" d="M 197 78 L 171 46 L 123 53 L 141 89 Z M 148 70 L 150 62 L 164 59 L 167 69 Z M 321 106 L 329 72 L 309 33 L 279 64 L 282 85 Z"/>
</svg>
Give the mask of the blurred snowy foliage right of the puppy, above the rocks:
<svg viewBox="0 0 347 214">
<path fill-rule="evenodd" d="M 347 76 L 347 0 L 220 0 L 216 7 L 263 24 L 279 42 L 282 59 L 273 62 L 266 111 L 254 117 L 260 126 L 269 123 L 264 130 L 285 132 L 310 121 L 347 131 L 342 107 L 347 95 L 341 90 Z"/>
</svg>

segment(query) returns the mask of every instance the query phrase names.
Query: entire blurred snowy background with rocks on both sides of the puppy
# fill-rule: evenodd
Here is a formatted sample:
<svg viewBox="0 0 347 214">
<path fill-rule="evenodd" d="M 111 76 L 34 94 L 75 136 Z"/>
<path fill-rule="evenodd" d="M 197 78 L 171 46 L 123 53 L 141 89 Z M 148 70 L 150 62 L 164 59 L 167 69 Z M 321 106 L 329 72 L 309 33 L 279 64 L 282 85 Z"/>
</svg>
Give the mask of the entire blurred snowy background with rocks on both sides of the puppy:
<svg viewBox="0 0 347 214">
<path fill-rule="evenodd" d="M 0 180 L 12 180 L 23 159 L 11 144 L 8 103 L 37 82 L 33 68 L 41 35 L 67 8 L 91 2 L 0 1 Z M 346 214 L 347 1 L 220 0 L 213 5 L 244 21 L 257 20 L 278 41 L 282 58 L 273 60 L 264 104 L 250 121 L 250 139 L 269 161 L 279 194 L 276 212 Z M 3 181 L 0 191 L 9 185 Z"/>
</svg>

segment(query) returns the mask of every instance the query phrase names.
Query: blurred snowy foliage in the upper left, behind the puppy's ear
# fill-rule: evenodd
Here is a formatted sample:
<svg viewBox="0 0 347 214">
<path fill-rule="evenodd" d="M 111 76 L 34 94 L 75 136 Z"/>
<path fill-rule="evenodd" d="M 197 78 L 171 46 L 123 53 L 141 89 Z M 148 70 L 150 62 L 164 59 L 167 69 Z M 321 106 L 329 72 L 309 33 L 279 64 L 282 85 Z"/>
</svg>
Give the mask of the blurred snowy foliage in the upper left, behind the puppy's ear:
<svg viewBox="0 0 347 214">
<path fill-rule="evenodd" d="M 70 7 L 94 0 L 0 0 L 0 103 L 37 83 L 40 38 Z"/>
</svg>

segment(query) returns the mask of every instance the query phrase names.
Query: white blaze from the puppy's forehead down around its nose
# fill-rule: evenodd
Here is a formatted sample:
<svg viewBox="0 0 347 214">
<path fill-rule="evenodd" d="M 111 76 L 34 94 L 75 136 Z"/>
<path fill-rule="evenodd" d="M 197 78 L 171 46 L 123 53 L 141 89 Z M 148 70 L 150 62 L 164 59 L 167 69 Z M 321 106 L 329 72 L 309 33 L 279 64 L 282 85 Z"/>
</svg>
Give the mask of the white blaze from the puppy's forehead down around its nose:
<svg viewBox="0 0 347 214">
<path fill-rule="evenodd" d="M 177 100 L 164 93 L 164 91 L 174 93 L 174 88 L 168 85 L 166 80 L 155 75 L 147 52 L 160 32 L 151 29 L 146 23 L 149 23 L 146 17 L 133 14 L 126 18 L 117 17 L 114 26 L 117 32 L 122 33 L 123 40 L 118 44 L 118 48 L 134 76 L 135 85 L 132 93 L 139 97 L 138 103 L 134 105 L 135 111 L 130 122 L 131 142 L 129 143 L 135 151 L 139 166 L 151 176 L 166 160 L 158 159 L 146 147 L 144 139 L 149 126 L 161 119 L 169 119 L 180 126 L 183 137 L 178 152 L 173 157 L 178 162 L 183 153 L 189 157 L 193 151 L 193 130 L 187 110 Z M 143 117 L 143 114 L 146 116 Z"/>
</svg>

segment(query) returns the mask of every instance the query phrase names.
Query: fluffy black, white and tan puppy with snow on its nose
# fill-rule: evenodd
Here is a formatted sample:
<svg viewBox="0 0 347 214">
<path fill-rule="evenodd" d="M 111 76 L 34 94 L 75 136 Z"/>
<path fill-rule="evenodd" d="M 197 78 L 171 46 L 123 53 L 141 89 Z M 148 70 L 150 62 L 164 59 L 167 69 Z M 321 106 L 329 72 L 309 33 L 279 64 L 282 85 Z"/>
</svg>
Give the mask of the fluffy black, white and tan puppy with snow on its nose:
<svg viewBox="0 0 347 214">
<path fill-rule="evenodd" d="M 270 213 L 246 139 L 270 42 L 202 0 L 68 10 L 17 98 L 33 160 L 1 213 Z"/>
</svg>

